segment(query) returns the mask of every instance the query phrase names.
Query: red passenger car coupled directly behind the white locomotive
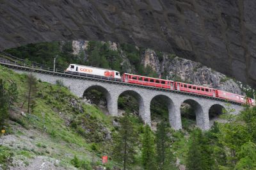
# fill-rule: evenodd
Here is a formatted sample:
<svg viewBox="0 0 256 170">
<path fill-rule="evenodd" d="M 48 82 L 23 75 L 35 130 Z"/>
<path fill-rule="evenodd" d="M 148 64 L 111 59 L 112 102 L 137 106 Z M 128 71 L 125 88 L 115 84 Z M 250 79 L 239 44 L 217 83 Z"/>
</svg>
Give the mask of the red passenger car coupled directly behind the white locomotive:
<svg viewBox="0 0 256 170">
<path fill-rule="evenodd" d="M 174 81 L 167 81 L 164 79 L 156 79 L 152 77 L 145 77 L 141 75 L 134 75 L 124 73 L 122 81 L 132 84 L 141 84 L 143 86 L 153 86 L 156 88 L 174 89 Z"/>
</svg>

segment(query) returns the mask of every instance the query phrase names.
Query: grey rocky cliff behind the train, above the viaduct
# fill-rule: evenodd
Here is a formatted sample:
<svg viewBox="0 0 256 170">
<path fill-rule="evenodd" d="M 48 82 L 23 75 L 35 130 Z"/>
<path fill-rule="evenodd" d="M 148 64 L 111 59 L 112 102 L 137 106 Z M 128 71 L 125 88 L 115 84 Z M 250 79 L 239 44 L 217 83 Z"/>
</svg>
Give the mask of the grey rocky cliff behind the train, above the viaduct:
<svg viewBox="0 0 256 170">
<path fill-rule="evenodd" d="M 86 50 L 87 41 L 73 41 L 80 44 L 77 49 L 73 50 Z M 120 45 L 115 42 L 109 42 L 111 50 L 118 50 L 123 59 L 123 63 L 127 63 L 126 71 L 128 73 L 136 72 L 135 68 L 129 62 Z M 74 46 L 73 46 L 74 48 Z M 139 50 L 139 49 L 138 49 Z M 122 64 L 122 63 L 121 63 Z M 163 79 L 171 79 L 176 81 L 188 82 L 199 86 L 206 86 L 209 88 L 221 89 L 239 95 L 244 95 L 238 84 L 229 77 L 220 72 L 216 72 L 207 66 L 196 63 L 189 59 L 182 59 L 175 54 L 168 54 L 166 52 L 157 53 L 152 49 L 145 49 L 141 54 L 141 65 L 144 67 L 149 66 L 153 72 L 156 72 L 159 77 Z M 177 79 L 178 78 L 178 79 Z M 93 98 L 91 98 L 93 100 Z M 102 101 L 103 102 L 103 101 Z M 99 104 L 99 102 L 93 102 Z M 102 105 L 102 104 L 101 104 Z M 104 104 L 103 104 L 104 105 Z"/>
</svg>

